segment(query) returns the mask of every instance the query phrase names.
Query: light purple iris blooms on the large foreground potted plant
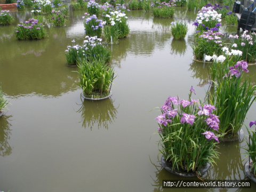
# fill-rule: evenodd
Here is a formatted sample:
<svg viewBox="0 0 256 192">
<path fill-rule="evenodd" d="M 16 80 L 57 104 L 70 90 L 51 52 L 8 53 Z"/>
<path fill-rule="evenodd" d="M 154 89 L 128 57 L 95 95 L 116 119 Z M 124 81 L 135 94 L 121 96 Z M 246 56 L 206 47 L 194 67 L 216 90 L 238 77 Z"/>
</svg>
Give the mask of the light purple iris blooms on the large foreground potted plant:
<svg viewBox="0 0 256 192">
<path fill-rule="evenodd" d="M 191 86 L 190 95 L 191 93 L 195 93 L 193 86 Z M 194 106 L 194 104 L 196 105 Z M 174 105 L 178 105 L 178 108 L 180 108 L 181 111 L 179 112 L 178 108 L 173 108 Z M 187 107 L 189 106 L 191 107 L 187 109 Z M 196 111 L 194 111 L 194 109 L 196 109 Z M 159 133 L 163 133 L 164 128 L 167 126 L 167 124 L 172 123 L 174 121 L 173 119 L 176 116 L 178 116 L 178 119 L 180 118 L 181 124 L 188 123 L 190 125 L 193 125 L 194 122 L 198 119 L 198 121 L 206 122 L 208 128 L 211 128 L 213 130 L 219 129 L 219 118 L 217 115 L 212 114 L 213 110 L 215 110 L 215 107 L 208 104 L 201 107 L 199 101 L 195 99 L 179 100 L 178 97 L 169 97 L 165 101 L 164 105 L 161 107 L 161 110 L 162 115 L 159 115 L 155 118 L 157 119 L 159 126 L 161 126 L 161 128 L 158 128 Z M 192 114 L 185 113 L 184 111 L 191 111 Z M 202 119 L 202 115 L 206 116 L 206 118 L 203 117 Z M 179 123 L 177 122 L 177 118 L 175 118 L 174 122 Z M 202 134 L 204 134 L 208 140 L 215 139 L 219 142 L 218 137 L 211 131 L 206 131 Z"/>
</svg>

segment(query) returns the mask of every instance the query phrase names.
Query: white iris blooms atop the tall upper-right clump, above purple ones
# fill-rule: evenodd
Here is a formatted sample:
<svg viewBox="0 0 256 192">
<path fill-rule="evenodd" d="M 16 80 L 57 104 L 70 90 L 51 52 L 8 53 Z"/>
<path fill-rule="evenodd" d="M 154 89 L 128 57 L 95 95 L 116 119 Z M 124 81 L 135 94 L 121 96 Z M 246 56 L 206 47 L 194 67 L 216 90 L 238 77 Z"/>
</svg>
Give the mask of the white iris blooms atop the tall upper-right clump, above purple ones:
<svg viewBox="0 0 256 192">
<path fill-rule="evenodd" d="M 221 22 L 221 14 L 213 10 L 213 7 L 202 7 L 202 9 L 197 13 L 196 22 L 202 24 L 203 21 Z"/>
</svg>

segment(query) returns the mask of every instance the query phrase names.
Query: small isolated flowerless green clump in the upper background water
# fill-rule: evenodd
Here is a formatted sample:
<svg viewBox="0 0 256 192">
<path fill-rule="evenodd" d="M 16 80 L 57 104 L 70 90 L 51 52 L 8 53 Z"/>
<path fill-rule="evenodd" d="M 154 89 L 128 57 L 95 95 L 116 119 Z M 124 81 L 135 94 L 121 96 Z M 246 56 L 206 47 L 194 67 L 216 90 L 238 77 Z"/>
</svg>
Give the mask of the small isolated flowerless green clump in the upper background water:
<svg viewBox="0 0 256 192">
<path fill-rule="evenodd" d="M 173 22 L 171 32 L 174 39 L 184 39 L 188 32 L 188 25 L 186 22 Z"/>
</svg>

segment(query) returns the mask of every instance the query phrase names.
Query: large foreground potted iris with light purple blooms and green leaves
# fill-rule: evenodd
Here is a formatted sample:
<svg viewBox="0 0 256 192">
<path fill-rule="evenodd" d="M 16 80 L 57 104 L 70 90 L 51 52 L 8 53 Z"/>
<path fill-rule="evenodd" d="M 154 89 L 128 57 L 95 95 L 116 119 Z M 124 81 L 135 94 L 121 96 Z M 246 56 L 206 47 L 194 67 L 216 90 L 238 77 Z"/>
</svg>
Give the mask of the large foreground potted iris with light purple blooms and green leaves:
<svg viewBox="0 0 256 192">
<path fill-rule="evenodd" d="M 215 146 L 219 142 L 219 119 L 213 114 L 215 107 L 191 99 L 193 92 L 191 86 L 188 100 L 169 97 L 161 107 L 162 114 L 156 117 L 162 165 L 183 176 L 202 174 L 218 159 Z"/>
</svg>

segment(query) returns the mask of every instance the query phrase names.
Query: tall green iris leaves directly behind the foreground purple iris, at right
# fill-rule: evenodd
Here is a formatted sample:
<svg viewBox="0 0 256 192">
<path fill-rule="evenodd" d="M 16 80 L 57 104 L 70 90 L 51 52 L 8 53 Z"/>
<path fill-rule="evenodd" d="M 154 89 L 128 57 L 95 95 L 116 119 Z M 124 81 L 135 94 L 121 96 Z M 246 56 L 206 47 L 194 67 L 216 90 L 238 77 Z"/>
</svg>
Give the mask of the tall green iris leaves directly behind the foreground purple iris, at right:
<svg viewBox="0 0 256 192">
<path fill-rule="evenodd" d="M 244 72 L 240 69 L 241 76 L 231 73 L 229 67 L 233 67 L 235 61 L 237 58 L 228 58 L 223 63 L 213 61 L 209 70 L 210 73 L 215 73 L 212 77 L 214 93 L 211 95 L 211 103 L 216 108 L 215 115 L 220 119 L 218 133 L 225 134 L 227 138 L 237 137 L 245 116 L 256 99 L 254 96 L 256 86 L 251 84 L 250 78 L 243 79 Z M 240 61 L 236 64 L 238 63 Z M 246 66 L 247 63 L 244 62 L 243 65 Z M 236 65 L 235 68 L 237 68 Z M 217 71 L 214 72 L 214 70 Z"/>
</svg>

